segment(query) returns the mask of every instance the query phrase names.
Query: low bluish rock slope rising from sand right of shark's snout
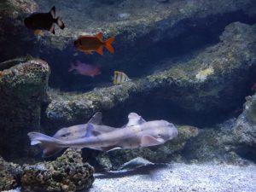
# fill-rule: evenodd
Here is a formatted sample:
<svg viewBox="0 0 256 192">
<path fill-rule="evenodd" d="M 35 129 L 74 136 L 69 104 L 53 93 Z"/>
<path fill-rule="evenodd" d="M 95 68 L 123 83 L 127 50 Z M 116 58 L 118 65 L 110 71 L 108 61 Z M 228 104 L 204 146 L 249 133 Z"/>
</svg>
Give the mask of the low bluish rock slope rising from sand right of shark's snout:
<svg viewBox="0 0 256 192">
<path fill-rule="evenodd" d="M 201 129 L 197 137 L 189 140 L 183 148 L 181 156 L 188 162 L 228 163 L 245 166 L 249 162 L 242 159 L 237 151 L 236 135 L 232 127 L 236 119 L 228 119 L 222 124 Z"/>
</svg>

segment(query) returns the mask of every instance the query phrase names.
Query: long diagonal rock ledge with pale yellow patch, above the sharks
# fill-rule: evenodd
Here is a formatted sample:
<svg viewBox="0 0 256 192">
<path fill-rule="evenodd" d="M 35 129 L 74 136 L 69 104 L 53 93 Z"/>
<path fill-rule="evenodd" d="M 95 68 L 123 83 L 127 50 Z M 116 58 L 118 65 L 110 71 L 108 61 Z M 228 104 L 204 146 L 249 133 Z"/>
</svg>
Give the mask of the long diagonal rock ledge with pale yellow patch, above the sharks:
<svg viewBox="0 0 256 192">
<path fill-rule="evenodd" d="M 232 23 L 226 26 L 218 44 L 186 62 L 166 61 L 170 67 L 164 71 L 84 94 L 50 92 L 46 119 L 67 125 L 89 119 L 96 111 L 120 104 L 124 107 L 128 101 L 130 106 L 147 106 L 152 100 L 172 104 L 184 113 L 228 113 L 242 102 L 247 82 L 255 72 L 255 32 L 255 25 Z M 129 108 L 128 104 L 125 107 Z"/>
</svg>

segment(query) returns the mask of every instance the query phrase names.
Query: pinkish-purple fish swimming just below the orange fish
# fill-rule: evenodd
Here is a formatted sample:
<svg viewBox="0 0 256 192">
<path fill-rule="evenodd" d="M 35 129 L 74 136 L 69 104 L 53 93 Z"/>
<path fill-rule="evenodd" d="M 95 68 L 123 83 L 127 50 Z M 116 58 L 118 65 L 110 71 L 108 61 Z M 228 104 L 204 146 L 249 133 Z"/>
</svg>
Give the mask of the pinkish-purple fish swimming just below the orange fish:
<svg viewBox="0 0 256 192">
<path fill-rule="evenodd" d="M 72 72 L 75 70 L 75 73 L 94 77 L 98 74 L 101 74 L 101 69 L 95 65 L 90 65 L 86 63 L 82 63 L 80 61 L 76 61 L 76 64 L 71 63 L 71 67 L 69 68 L 68 72 Z"/>
</svg>

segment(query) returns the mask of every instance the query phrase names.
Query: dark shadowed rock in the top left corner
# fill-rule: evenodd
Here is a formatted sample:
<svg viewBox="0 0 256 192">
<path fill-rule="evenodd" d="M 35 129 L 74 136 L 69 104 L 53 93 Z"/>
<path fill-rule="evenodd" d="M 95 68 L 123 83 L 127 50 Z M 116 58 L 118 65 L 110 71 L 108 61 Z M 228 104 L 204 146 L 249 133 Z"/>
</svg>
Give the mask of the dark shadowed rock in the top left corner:
<svg viewBox="0 0 256 192">
<path fill-rule="evenodd" d="M 34 47 L 35 38 L 24 26 L 24 18 L 38 9 L 33 0 L 0 1 L 0 61 L 27 54 Z M 22 37 L 22 38 L 21 38 Z"/>
</svg>

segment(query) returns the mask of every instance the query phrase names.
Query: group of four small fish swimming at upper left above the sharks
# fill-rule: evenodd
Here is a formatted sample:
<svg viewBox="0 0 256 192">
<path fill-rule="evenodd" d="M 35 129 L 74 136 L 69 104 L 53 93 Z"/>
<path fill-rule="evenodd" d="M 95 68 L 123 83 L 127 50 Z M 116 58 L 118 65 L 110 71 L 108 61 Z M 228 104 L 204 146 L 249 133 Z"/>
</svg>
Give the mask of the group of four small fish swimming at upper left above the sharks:
<svg viewBox="0 0 256 192">
<path fill-rule="evenodd" d="M 24 20 L 25 26 L 32 29 L 35 35 L 43 36 L 43 30 L 47 30 L 55 34 L 55 24 L 57 24 L 62 30 L 65 28 L 64 22 L 61 17 L 55 16 L 55 6 L 49 10 L 48 13 L 33 13 Z M 74 40 L 73 45 L 79 51 L 84 52 L 86 55 L 92 55 L 93 52 L 103 55 L 103 48 L 108 49 L 110 53 L 114 53 L 112 46 L 114 37 L 108 38 L 106 41 L 103 40 L 102 32 L 98 32 L 95 36 L 91 35 L 80 35 L 78 39 Z M 95 77 L 101 74 L 99 67 L 89 65 L 77 61 L 75 64 L 71 64 L 68 72 L 79 73 L 84 76 Z M 131 79 L 125 73 L 115 71 L 113 76 L 113 84 L 122 84 Z"/>
</svg>

